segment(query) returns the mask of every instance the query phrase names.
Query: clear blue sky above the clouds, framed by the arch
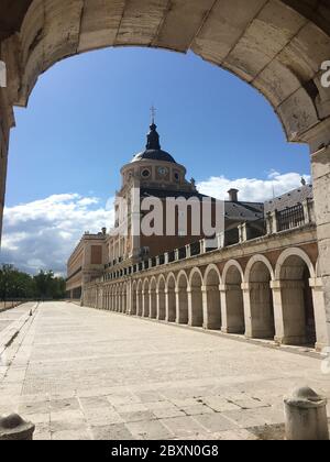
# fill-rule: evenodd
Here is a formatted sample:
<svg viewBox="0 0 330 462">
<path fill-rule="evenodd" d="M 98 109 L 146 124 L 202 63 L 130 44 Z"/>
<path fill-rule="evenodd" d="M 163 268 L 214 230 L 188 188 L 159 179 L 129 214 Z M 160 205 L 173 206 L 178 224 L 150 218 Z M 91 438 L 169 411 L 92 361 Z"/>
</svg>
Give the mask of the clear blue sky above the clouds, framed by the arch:
<svg viewBox="0 0 330 462">
<path fill-rule="evenodd" d="M 63 61 L 16 109 L 7 205 L 59 193 L 113 195 L 119 169 L 145 144 L 150 107 L 162 146 L 189 178 L 309 173 L 256 90 L 194 54 L 114 48 Z"/>
</svg>

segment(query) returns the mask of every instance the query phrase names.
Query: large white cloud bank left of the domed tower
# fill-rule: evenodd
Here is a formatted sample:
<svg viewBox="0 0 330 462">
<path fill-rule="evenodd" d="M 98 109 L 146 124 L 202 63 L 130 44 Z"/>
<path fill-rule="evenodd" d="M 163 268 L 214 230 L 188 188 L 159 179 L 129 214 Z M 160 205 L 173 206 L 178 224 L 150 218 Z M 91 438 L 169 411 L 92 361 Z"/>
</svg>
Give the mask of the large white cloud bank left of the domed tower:
<svg viewBox="0 0 330 462">
<path fill-rule="evenodd" d="M 7 207 L 0 261 L 29 273 L 53 270 L 65 274 L 66 261 L 81 234 L 112 224 L 112 209 L 106 210 L 96 197 L 78 194 Z"/>
</svg>

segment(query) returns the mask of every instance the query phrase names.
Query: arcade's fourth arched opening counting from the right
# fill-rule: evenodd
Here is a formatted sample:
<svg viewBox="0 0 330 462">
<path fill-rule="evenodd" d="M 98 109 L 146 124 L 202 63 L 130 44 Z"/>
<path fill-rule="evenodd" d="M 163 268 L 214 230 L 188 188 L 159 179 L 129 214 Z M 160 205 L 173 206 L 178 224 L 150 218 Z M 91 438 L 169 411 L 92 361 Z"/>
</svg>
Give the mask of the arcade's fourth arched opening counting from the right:
<svg viewBox="0 0 330 462">
<path fill-rule="evenodd" d="M 206 309 L 204 327 L 206 329 L 221 329 L 220 274 L 215 267 L 207 270 L 205 277 Z"/>
</svg>

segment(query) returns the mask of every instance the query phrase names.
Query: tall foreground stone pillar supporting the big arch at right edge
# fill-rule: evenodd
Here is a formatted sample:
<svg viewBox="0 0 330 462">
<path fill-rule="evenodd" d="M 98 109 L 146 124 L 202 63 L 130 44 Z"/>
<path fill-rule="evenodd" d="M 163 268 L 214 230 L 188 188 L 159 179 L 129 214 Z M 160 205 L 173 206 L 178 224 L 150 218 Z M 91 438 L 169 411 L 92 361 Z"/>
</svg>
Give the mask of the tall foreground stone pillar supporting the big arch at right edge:
<svg viewBox="0 0 330 462">
<path fill-rule="evenodd" d="M 315 216 L 319 245 L 319 276 L 323 297 L 330 344 L 330 118 L 304 135 L 311 152 Z"/>
</svg>

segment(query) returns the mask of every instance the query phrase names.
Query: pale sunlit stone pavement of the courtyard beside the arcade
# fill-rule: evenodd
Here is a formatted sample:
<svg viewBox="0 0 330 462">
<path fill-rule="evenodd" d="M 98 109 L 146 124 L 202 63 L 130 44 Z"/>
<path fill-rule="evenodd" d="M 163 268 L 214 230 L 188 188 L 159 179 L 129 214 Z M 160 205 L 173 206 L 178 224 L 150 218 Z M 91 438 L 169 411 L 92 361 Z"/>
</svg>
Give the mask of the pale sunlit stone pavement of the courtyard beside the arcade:
<svg viewBox="0 0 330 462">
<path fill-rule="evenodd" d="M 41 305 L 6 360 L 0 414 L 36 440 L 255 439 L 296 385 L 330 397 L 320 360 L 69 304 Z"/>
</svg>

